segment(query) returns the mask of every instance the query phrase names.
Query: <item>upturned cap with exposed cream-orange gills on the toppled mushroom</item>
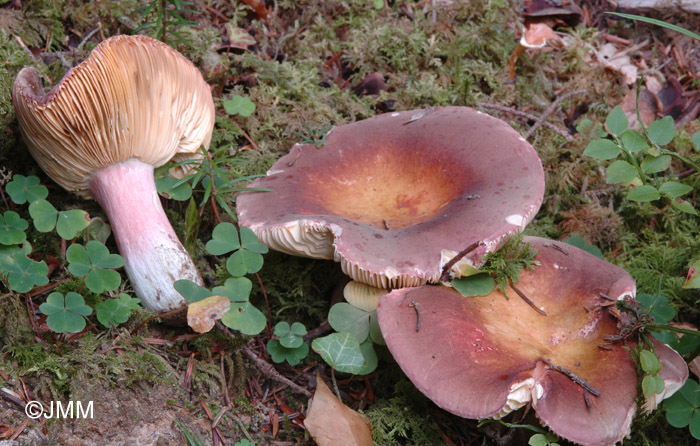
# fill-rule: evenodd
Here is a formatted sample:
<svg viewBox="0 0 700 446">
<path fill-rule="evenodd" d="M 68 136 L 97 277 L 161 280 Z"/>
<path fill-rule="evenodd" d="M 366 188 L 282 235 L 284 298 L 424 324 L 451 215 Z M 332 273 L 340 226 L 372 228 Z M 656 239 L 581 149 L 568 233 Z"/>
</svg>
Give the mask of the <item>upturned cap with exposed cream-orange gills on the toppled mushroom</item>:
<svg viewBox="0 0 700 446">
<path fill-rule="evenodd" d="M 34 159 L 85 197 L 90 176 L 104 167 L 196 157 L 214 126 L 211 90 L 197 68 L 146 36 L 105 40 L 48 93 L 38 71 L 24 68 L 12 99 Z M 182 176 L 187 168 L 173 170 Z"/>
</svg>

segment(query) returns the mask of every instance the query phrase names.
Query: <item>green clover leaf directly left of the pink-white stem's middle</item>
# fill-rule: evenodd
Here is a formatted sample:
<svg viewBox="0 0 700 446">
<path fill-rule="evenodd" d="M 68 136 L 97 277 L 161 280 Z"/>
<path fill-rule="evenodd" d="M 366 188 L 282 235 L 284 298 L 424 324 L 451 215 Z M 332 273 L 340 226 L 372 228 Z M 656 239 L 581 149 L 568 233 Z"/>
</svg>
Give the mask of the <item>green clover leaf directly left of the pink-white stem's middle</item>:
<svg viewBox="0 0 700 446">
<path fill-rule="evenodd" d="M 76 277 L 85 276 L 85 285 L 93 293 L 103 293 L 119 288 L 121 276 L 112 268 L 124 266 L 119 254 L 110 254 L 107 247 L 91 240 L 85 247 L 73 244 L 66 250 L 68 271 Z"/>
</svg>

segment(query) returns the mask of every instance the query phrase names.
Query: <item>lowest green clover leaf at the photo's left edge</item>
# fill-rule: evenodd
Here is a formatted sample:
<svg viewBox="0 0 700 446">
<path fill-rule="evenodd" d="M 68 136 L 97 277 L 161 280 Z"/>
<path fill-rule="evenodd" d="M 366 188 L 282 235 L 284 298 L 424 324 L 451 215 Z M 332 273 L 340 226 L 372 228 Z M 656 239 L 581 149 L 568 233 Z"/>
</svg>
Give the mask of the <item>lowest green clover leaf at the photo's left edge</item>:
<svg viewBox="0 0 700 446">
<path fill-rule="evenodd" d="M 26 293 L 35 286 L 49 283 L 49 267 L 43 260 L 36 262 L 29 257 L 26 249 L 3 249 L 0 255 L 0 274 L 7 278 L 10 289 Z"/>
</svg>

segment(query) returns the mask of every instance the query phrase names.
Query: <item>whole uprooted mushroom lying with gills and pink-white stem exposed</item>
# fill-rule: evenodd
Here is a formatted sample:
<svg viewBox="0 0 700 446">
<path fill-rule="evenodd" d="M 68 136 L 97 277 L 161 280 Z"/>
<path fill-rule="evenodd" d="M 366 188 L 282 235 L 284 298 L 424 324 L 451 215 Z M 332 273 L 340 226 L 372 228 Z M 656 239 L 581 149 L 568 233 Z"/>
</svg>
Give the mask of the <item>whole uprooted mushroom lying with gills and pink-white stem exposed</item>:
<svg viewBox="0 0 700 446">
<path fill-rule="evenodd" d="M 104 209 L 143 304 L 155 311 L 184 306 L 173 282 L 202 281 L 163 211 L 153 169 L 209 145 L 214 103 L 197 68 L 157 40 L 116 36 L 48 93 L 39 73 L 24 68 L 12 98 L 39 166 Z"/>
</svg>

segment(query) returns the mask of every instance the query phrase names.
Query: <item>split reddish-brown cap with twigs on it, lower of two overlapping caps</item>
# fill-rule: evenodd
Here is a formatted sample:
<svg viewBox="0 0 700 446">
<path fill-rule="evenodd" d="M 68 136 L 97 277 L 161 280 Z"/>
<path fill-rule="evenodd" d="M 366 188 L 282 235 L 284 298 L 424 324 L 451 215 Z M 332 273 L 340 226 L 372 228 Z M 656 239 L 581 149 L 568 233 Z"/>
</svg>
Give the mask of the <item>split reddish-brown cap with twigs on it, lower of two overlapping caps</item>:
<svg viewBox="0 0 700 446">
<path fill-rule="evenodd" d="M 438 406 L 467 418 L 501 417 L 532 402 L 557 435 L 583 445 L 612 445 L 628 434 L 638 377 L 607 299 L 631 298 L 635 283 L 621 268 L 573 246 L 526 237 L 541 266 L 523 271 L 517 287 L 468 298 L 442 286 L 396 290 L 377 307 L 384 339 L 408 378 Z M 560 249 L 558 249 L 560 248 Z M 564 254 L 566 252 L 567 254 Z M 601 306 L 603 305 L 603 306 Z M 614 306 L 613 306 L 614 308 Z M 421 315 L 417 331 L 417 312 Z M 666 381 L 684 382 L 687 367 L 654 342 Z M 563 372 L 584 379 L 589 393 Z M 664 372 L 666 373 L 666 372 Z M 670 396 L 670 395 L 669 395 Z"/>
</svg>

